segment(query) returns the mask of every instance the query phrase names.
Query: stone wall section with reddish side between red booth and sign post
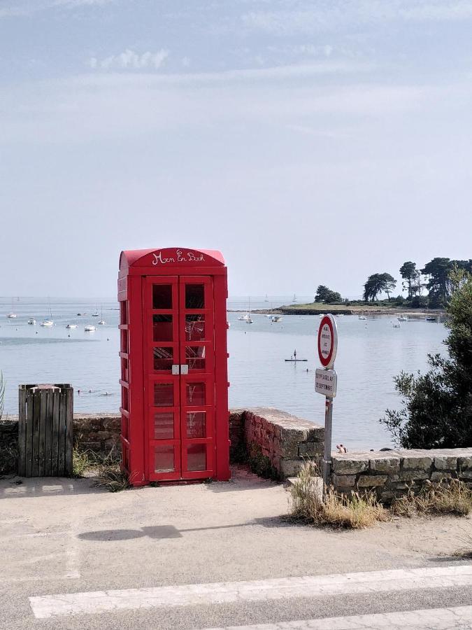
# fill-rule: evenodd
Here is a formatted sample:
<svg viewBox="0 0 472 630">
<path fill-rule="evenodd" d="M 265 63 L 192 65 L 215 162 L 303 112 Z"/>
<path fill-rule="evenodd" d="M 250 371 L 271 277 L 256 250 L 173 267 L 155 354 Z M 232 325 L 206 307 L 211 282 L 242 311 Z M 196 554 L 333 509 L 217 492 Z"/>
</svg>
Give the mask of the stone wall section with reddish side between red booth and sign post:
<svg viewBox="0 0 472 630">
<path fill-rule="evenodd" d="M 279 409 L 247 409 L 243 414 L 245 443 L 258 444 L 280 479 L 296 475 L 304 458 L 323 454 L 324 428 Z"/>
</svg>

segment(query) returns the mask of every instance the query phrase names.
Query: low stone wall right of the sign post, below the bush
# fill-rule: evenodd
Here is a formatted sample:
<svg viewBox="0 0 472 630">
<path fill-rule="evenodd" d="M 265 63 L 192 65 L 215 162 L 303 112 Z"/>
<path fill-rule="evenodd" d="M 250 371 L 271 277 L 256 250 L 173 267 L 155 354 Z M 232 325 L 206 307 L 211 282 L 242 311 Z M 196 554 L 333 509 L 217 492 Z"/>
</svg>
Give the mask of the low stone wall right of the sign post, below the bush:
<svg viewBox="0 0 472 630">
<path fill-rule="evenodd" d="M 399 449 L 332 455 L 331 482 L 338 492 L 373 490 L 384 503 L 419 491 L 428 479 L 458 477 L 472 487 L 471 449 Z"/>
</svg>

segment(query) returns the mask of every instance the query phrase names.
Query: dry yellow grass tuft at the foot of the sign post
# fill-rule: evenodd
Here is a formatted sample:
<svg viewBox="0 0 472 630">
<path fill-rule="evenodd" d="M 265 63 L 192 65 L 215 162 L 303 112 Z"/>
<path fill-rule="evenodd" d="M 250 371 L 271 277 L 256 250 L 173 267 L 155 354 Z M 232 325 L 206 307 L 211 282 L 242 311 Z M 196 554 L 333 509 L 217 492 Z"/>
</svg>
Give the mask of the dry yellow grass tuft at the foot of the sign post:
<svg viewBox="0 0 472 630">
<path fill-rule="evenodd" d="M 306 519 L 315 525 L 359 529 L 377 521 L 387 521 L 389 513 L 373 493 L 338 495 L 329 489 L 324 500 L 317 494 L 314 477 L 318 470 L 311 461 L 303 463 L 290 489 L 292 517 Z"/>
</svg>

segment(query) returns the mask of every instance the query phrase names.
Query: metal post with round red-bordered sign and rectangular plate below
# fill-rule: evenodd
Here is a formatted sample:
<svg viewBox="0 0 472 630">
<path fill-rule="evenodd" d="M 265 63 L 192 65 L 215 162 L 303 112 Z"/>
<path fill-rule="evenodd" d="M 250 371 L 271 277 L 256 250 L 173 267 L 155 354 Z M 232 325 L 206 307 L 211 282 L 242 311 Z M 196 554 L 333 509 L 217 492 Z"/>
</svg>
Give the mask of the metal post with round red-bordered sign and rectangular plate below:
<svg viewBox="0 0 472 630">
<path fill-rule="evenodd" d="M 315 391 L 326 396 L 324 405 L 324 456 L 323 490 L 327 491 L 331 477 L 331 430 L 333 426 L 333 398 L 336 396 L 338 377 L 334 371 L 334 359 L 338 350 L 338 328 L 332 315 L 325 315 L 318 330 L 318 356 L 323 370 L 317 369 Z"/>
</svg>

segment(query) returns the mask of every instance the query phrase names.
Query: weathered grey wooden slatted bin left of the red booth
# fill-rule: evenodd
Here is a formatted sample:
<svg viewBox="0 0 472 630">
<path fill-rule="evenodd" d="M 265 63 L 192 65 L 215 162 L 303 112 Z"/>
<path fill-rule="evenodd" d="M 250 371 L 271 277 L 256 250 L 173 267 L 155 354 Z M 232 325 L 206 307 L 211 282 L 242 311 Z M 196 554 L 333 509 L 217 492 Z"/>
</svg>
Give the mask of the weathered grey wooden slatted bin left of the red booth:
<svg viewBox="0 0 472 630">
<path fill-rule="evenodd" d="M 69 384 L 20 385 L 18 475 L 72 474 L 73 388 Z"/>
</svg>

